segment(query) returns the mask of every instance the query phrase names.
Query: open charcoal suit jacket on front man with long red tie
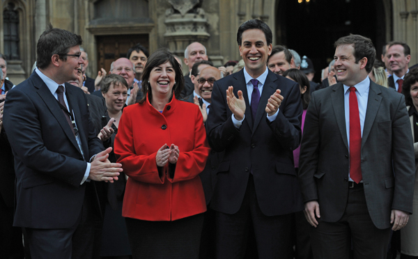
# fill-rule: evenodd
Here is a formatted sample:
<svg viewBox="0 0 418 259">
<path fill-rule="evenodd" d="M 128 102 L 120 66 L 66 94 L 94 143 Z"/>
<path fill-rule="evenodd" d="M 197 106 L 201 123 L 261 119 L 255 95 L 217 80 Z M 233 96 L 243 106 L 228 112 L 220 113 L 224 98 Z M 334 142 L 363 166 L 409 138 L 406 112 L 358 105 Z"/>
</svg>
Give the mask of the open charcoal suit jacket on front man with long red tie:
<svg viewBox="0 0 418 259">
<path fill-rule="evenodd" d="M 377 228 L 389 228 L 392 209 L 412 212 L 412 143 L 405 98 L 371 81 L 361 166 L 367 207 Z M 346 209 L 349 165 L 343 84 L 339 83 L 312 94 L 300 150 L 304 202 L 318 200 L 323 221 L 338 221 Z"/>
</svg>

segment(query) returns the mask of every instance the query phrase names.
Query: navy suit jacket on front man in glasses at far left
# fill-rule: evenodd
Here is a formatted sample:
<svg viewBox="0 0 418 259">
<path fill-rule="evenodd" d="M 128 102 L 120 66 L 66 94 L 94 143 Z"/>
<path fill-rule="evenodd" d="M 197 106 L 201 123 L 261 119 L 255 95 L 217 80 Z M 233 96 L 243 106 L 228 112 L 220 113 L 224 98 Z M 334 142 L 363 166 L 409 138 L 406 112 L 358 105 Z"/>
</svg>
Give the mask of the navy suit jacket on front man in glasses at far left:
<svg viewBox="0 0 418 259">
<path fill-rule="evenodd" d="M 84 157 L 59 102 L 36 72 L 8 92 L 4 127 L 15 155 L 14 226 L 70 228 L 82 210 L 86 161 L 104 148 L 95 136 L 86 95 L 68 83 L 65 88 Z"/>
</svg>

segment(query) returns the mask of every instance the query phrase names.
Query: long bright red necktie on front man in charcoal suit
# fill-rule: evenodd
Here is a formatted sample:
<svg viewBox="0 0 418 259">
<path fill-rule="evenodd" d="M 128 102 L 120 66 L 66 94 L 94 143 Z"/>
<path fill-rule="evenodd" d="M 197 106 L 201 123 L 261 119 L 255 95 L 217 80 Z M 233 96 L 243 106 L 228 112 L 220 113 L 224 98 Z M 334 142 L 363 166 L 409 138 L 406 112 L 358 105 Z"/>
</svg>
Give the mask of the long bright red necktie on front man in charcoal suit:
<svg viewBox="0 0 418 259">
<path fill-rule="evenodd" d="M 362 128 L 360 127 L 359 104 L 355 87 L 350 87 L 350 178 L 356 183 L 362 180 L 361 149 Z"/>
</svg>

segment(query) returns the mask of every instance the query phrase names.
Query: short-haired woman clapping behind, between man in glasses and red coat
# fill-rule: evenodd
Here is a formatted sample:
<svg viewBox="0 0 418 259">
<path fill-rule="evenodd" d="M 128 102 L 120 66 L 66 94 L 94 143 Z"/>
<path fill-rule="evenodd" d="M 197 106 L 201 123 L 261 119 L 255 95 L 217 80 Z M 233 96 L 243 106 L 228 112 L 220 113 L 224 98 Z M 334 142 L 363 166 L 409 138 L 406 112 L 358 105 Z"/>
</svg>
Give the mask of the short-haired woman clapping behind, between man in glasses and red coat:
<svg viewBox="0 0 418 259">
<path fill-rule="evenodd" d="M 127 98 L 127 82 L 118 74 L 109 74 L 103 78 L 101 84 L 107 111 L 102 117 L 102 126 L 104 127 L 98 137 L 103 141 L 103 145 L 106 148 L 109 146 L 113 148 Z M 109 161 L 112 163 L 116 162 L 114 150 L 109 154 Z M 107 185 L 107 203 L 104 212 L 102 246 L 100 249 L 102 258 L 131 258 L 125 219 L 122 217 L 125 185 L 126 178 L 123 172 L 121 172 L 117 181 Z"/>
</svg>

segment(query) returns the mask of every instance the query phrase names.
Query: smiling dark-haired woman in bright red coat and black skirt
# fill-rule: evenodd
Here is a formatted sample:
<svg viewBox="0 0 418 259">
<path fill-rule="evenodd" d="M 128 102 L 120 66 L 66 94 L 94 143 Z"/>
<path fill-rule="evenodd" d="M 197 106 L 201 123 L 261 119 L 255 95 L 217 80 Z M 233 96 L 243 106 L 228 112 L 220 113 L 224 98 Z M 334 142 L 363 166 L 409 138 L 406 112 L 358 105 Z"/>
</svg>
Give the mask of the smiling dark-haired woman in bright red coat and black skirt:
<svg viewBox="0 0 418 259">
<path fill-rule="evenodd" d="M 129 176 L 122 215 L 134 258 L 198 258 L 209 154 L 199 107 L 178 100 L 184 79 L 173 55 L 154 52 L 144 98 L 123 110 L 114 152 Z"/>
</svg>

